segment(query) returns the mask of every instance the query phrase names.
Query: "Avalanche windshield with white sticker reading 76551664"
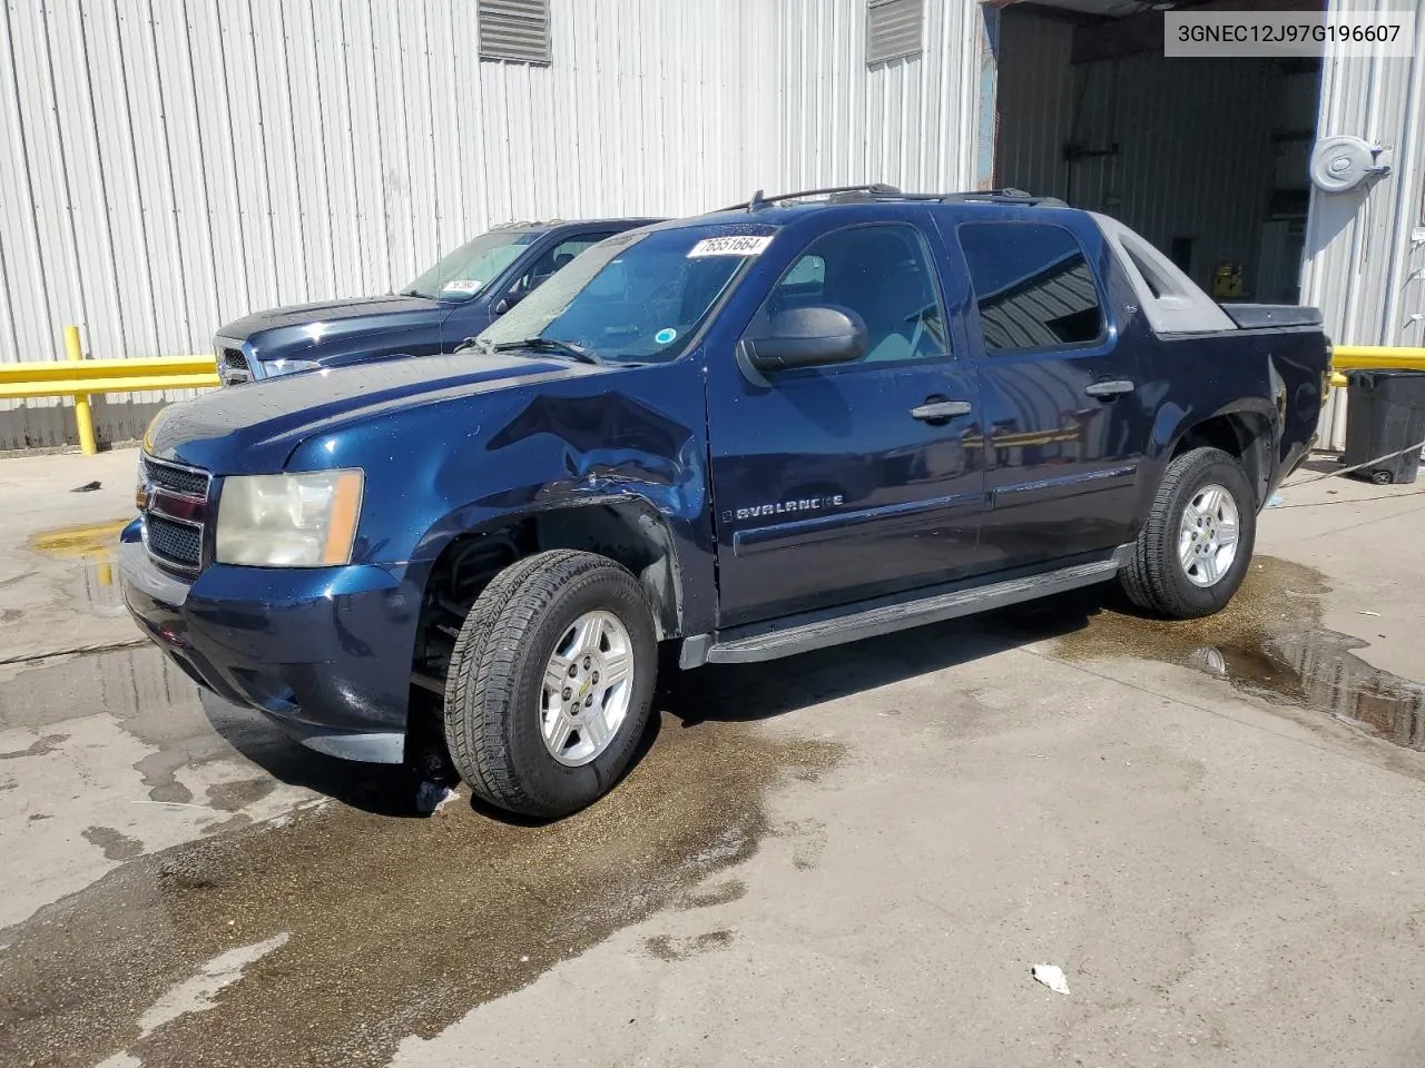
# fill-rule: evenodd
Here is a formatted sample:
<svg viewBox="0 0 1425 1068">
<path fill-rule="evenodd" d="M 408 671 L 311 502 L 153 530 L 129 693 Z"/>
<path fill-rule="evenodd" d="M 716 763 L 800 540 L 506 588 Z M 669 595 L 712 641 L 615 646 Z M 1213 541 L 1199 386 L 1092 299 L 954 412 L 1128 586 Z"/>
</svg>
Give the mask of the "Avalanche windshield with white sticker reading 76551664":
<svg viewBox="0 0 1425 1068">
<path fill-rule="evenodd" d="M 664 363 L 770 241 L 725 228 L 620 234 L 594 245 L 494 320 L 480 340 L 573 345 L 606 362 Z M 721 236 L 720 236 L 721 235 Z"/>
</svg>

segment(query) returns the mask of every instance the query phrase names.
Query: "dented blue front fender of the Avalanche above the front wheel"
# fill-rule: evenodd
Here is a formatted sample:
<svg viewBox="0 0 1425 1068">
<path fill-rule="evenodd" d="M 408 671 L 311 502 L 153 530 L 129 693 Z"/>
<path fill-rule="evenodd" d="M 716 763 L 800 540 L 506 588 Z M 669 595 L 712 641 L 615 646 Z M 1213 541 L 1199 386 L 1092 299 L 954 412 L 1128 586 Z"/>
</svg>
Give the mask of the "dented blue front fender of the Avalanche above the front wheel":
<svg viewBox="0 0 1425 1068">
<path fill-rule="evenodd" d="M 657 518 L 681 577 L 685 627 L 711 627 L 712 521 L 701 376 L 693 365 L 590 370 L 537 387 L 412 403 L 304 443 L 288 470 L 362 467 L 353 560 L 423 584 L 457 537 L 564 508 Z"/>
</svg>

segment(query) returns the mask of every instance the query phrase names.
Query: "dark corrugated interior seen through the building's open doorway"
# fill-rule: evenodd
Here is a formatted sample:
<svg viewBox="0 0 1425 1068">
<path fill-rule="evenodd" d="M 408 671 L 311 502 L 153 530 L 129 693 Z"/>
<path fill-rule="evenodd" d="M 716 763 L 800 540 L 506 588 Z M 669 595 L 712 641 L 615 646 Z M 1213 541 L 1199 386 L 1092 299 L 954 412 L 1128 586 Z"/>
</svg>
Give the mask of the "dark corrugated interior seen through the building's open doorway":
<svg viewBox="0 0 1425 1068">
<path fill-rule="evenodd" d="M 1188 273 L 1221 262 L 1254 278 L 1273 185 L 1278 75 L 1270 60 L 1173 60 L 1141 53 L 1069 66 L 1073 24 L 1009 10 L 1002 20 L 1000 184 L 1121 219 Z M 1064 158 L 1064 145 L 1086 152 Z"/>
</svg>

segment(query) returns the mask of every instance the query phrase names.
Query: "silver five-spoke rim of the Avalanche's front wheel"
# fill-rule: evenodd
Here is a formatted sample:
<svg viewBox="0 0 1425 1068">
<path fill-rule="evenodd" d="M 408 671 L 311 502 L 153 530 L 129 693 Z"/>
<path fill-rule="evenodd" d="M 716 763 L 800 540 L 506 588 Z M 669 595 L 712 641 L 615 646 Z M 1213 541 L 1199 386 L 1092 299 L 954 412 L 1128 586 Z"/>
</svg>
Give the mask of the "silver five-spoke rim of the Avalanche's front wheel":
<svg viewBox="0 0 1425 1068">
<path fill-rule="evenodd" d="M 544 666 L 539 723 L 550 756 L 569 768 L 594 760 L 628 716 L 633 644 L 613 612 L 584 612 Z"/>
</svg>

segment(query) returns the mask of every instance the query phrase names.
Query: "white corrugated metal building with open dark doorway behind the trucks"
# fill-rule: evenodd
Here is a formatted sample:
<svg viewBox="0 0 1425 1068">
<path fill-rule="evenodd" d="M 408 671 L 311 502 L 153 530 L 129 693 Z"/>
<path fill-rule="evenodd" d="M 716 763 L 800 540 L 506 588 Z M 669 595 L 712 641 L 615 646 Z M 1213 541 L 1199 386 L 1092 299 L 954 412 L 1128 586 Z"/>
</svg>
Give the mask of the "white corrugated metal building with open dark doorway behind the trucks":
<svg viewBox="0 0 1425 1068">
<path fill-rule="evenodd" d="M 1421 7 L 1218 7 L 1327 1 Z M 1203 283 L 1300 290 L 1337 340 L 1425 343 L 1425 17 L 1414 58 L 1164 60 L 1163 6 L 4 0 L 0 362 L 60 359 L 66 323 L 93 356 L 205 352 L 494 222 L 861 181 L 1063 197 Z M 1310 189 L 1328 134 L 1391 175 Z M 101 440 L 162 400 L 97 402 Z M 0 449 L 71 434 L 57 403 L 0 403 Z"/>
</svg>

